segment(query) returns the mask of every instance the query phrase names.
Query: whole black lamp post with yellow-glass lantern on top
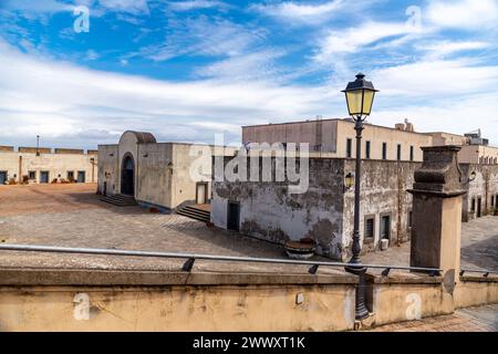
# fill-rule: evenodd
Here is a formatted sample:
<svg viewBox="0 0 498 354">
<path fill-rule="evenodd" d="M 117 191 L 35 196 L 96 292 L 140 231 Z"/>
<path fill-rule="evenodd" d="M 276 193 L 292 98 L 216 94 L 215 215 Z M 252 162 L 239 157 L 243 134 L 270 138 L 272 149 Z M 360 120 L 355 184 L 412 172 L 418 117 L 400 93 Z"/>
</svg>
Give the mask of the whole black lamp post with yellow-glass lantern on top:
<svg viewBox="0 0 498 354">
<path fill-rule="evenodd" d="M 356 166 L 354 174 L 354 229 L 353 229 L 353 256 L 345 268 L 347 272 L 359 275 L 359 285 L 356 288 L 356 320 L 369 316 L 369 310 L 365 306 L 365 272 L 366 268 L 362 267 L 360 259 L 360 183 L 361 183 L 361 164 L 362 164 L 362 132 L 363 122 L 372 111 L 372 104 L 377 90 L 373 84 L 365 80 L 365 75 L 359 73 L 356 80 L 347 83 L 344 91 L 347 103 L 347 111 L 353 118 L 356 131 Z"/>
</svg>

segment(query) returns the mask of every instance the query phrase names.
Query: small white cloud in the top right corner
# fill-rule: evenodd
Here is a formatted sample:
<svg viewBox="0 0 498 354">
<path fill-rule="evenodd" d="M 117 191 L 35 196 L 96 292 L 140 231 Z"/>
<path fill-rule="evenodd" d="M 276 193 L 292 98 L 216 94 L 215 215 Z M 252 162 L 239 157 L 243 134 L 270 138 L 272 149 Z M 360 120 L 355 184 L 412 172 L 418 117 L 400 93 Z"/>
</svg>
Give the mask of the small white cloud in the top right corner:
<svg viewBox="0 0 498 354">
<path fill-rule="evenodd" d="M 439 28 L 460 30 L 496 29 L 498 2 L 496 0 L 430 0 L 424 18 Z"/>
</svg>

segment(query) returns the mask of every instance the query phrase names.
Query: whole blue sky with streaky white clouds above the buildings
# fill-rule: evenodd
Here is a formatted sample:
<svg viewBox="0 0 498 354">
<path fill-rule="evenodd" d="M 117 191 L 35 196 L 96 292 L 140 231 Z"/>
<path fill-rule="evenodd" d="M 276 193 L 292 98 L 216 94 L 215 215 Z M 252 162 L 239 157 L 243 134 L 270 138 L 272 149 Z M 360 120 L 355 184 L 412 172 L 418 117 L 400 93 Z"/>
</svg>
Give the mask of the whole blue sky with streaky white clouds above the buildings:
<svg viewBox="0 0 498 354">
<path fill-rule="evenodd" d="M 498 0 L 0 0 L 0 145 L 240 144 L 345 117 L 357 72 L 370 123 L 498 145 L 497 23 Z"/>
</svg>

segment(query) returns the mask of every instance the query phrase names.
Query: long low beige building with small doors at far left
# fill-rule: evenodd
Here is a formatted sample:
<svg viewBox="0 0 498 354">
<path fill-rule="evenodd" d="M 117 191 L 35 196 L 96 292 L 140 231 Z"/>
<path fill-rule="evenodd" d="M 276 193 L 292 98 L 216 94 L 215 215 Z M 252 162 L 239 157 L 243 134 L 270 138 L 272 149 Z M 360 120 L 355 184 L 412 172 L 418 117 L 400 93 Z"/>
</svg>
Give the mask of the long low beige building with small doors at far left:
<svg viewBox="0 0 498 354">
<path fill-rule="evenodd" d="M 0 147 L 0 184 L 96 183 L 97 152 Z"/>
</svg>

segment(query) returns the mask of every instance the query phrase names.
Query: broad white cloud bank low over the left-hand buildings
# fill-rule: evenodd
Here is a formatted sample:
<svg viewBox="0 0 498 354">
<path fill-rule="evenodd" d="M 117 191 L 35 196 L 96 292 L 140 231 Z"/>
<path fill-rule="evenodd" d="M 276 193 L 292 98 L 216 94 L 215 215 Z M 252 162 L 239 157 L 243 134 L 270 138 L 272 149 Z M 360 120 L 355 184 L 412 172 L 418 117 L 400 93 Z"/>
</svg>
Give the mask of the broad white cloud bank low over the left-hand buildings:
<svg viewBox="0 0 498 354">
<path fill-rule="evenodd" d="M 0 139 L 11 144 L 37 134 L 72 145 L 108 143 L 81 134 L 128 128 L 166 139 L 210 142 L 224 126 L 234 134 L 234 125 L 311 115 L 329 104 L 318 87 L 268 81 L 173 83 L 34 59 L 1 41 L 0 76 L 0 124 L 8 127 Z M 207 125 L 198 124 L 203 121 Z"/>
</svg>

